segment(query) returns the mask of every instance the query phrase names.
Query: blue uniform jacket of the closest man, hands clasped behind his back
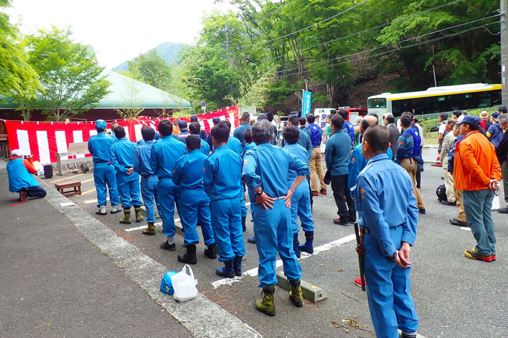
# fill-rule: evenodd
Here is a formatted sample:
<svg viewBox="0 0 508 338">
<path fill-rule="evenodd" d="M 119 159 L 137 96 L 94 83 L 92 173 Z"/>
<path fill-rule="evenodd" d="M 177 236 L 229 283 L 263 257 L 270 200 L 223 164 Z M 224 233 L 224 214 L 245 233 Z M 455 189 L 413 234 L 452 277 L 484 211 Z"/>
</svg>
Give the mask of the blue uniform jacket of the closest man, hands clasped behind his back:
<svg viewBox="0 0 508 338">
<path fill-rule="evenodd" d="M 369 160 L 358 176 L 355 205 L 360 227 L 369 228 L 385 256 L 395 253 L 390 228 L 403 226 L 401 241 L 413 245 L 416 239 L 418 207 L 409 174 L 386 154 Z"/>
</svg>

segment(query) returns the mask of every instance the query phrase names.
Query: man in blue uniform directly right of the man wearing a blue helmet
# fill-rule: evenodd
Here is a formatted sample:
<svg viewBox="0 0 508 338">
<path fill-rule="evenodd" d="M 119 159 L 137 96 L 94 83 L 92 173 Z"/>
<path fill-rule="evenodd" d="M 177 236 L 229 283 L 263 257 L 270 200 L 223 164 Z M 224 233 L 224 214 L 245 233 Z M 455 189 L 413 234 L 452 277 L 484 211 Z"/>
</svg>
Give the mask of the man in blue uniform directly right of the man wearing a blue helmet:
<svg viewBox="0 0 508 338">
<path fill-rule="evenodd" d="M 136 143 L 125 138 L 123 127 L 115 128 L 115 136 L 118 139 L 111 145 L 111 164 L 116 169 L 116 184 L 123 208 L 122 224 L 131 224 L 131 207 L 134 206 L 136 222 L 143 220 L 141 206 L 143 203 L 139 191 L 139 175 L 134 172 L 134 151 Z"/>
</svg>

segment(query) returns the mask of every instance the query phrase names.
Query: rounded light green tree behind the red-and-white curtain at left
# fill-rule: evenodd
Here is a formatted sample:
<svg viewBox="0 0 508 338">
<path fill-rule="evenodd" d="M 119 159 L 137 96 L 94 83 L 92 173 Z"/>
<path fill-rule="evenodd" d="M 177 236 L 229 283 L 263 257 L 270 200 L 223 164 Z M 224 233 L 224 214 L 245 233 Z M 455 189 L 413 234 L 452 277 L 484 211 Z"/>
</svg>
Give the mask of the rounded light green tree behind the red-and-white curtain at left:
<svg viewBox="0 0 508 338">
<path fill-rule="evenodd" d="M 30 64 L 39 73 L 43 89 L 33 102 L 48 120 L 61 121 L 92 109 L 109 91 L 110 82 L 101 77 L 95 53 L 74 43 L 69 28 L 40 30 L 27 37 Z"/>
</svg>

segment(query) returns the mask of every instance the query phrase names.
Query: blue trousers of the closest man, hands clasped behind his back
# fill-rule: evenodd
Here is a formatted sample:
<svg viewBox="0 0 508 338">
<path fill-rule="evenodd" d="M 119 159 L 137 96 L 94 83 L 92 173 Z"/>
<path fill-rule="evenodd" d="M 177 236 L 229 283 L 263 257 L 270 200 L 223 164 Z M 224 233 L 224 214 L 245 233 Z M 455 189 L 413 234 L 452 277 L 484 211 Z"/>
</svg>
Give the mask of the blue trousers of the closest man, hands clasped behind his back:
<svg viewBox="0 0 508 338">
<path fill-rule="evenodd" d="M 403 227 L 390 228 L 390 237 L 400 249 Z M 409 294 L 409 271 L 383 255 L 376 239 L 365 234 L 364 271 L 367 299 L 377 338 L 398 338 L 397 328 L 406 333 L 416 332 L 418 317 Z"/>
</svg>

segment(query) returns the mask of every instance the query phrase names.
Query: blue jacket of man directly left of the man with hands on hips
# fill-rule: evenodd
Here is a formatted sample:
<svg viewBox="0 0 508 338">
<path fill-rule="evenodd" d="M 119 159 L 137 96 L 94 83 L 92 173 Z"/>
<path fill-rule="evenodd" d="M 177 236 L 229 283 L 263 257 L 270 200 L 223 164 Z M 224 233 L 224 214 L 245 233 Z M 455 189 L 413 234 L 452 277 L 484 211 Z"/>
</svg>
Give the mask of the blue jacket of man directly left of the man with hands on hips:
<svg viewBox="0 0 508 338">
<path fill-rule="evenodd" d="M 237 153 L 221 145 L 206 158 L 203 167 L 203 189 L 211 201 L 240 198 L 242 159 Z"/>
</svg>

